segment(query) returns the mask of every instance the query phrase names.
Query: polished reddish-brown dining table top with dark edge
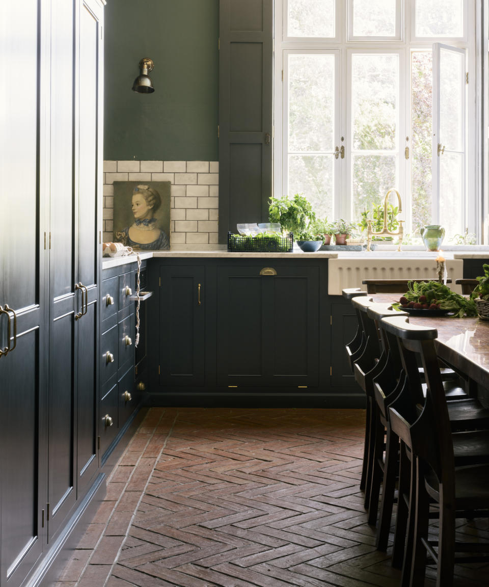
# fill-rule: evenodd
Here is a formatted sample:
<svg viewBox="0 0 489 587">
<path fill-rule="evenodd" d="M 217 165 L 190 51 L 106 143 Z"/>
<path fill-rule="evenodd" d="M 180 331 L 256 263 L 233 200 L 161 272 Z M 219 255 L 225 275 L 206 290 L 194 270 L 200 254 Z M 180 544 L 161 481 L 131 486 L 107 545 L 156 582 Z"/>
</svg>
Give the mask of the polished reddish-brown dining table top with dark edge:
<svg viewBox="0 0 489 587">
<path fill-rule="evenodd" d="M 399 301 L 398 294 L 372 294 L 369 297 L 379 303 Z M 435 347 L 440 359 L 466 373 L 478 386 L 489 390 L 489 321 L 450 315 L 410 315 L 409 322 L 436 328 L 438 338 Z"/>
</svg>

